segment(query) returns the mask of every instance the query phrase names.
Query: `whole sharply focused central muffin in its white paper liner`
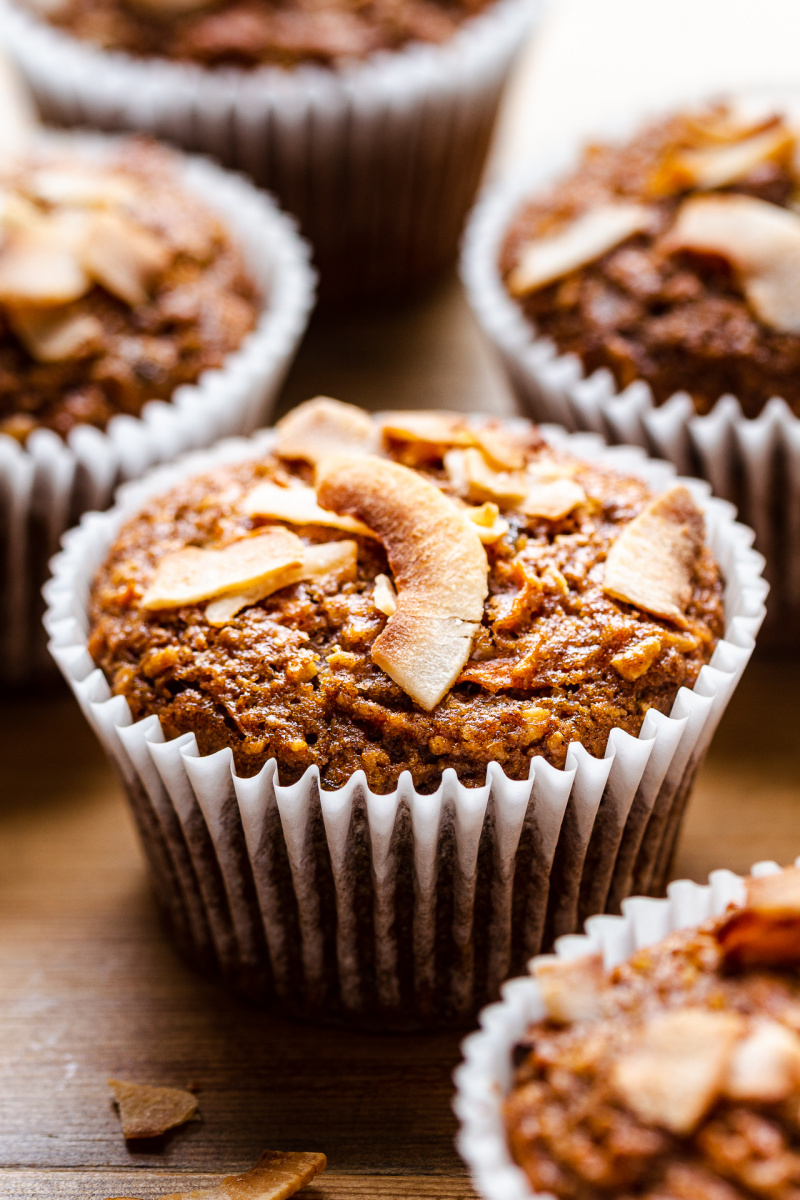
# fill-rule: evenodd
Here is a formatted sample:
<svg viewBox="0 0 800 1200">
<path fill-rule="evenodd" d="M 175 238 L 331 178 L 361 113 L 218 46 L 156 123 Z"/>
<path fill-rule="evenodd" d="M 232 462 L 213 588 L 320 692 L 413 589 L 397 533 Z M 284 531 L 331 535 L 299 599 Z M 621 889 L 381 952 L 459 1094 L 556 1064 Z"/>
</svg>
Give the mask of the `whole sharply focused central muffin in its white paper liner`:
<svg viewBox="0 0 800 1200">
<path fill-rule="evenodd" d="M 763 588 L 727 506 L 633 463 L 320 397 L 70 540 L 53 653 L 236 986 L 464 1019 L 660 886 Z"/>
</svg>

